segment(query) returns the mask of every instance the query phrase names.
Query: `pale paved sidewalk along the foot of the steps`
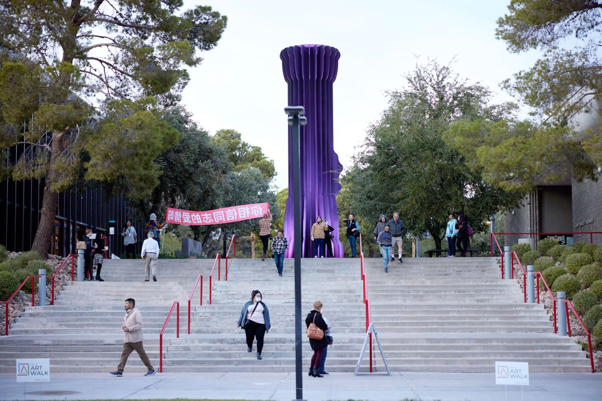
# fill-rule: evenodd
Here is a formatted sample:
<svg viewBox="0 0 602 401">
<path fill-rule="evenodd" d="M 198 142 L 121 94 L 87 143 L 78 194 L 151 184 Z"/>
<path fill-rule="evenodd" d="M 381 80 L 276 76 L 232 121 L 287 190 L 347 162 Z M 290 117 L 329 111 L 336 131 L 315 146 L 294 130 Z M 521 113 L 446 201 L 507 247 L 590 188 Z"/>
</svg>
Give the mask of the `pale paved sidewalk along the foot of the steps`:
<svg viewBox="0 0 602 401">
<path fill-rule="evenodd" d="M 379 373 L 353 376 L 332 373 L 309 378 L 304 372 L 303 398 L 318 400 L 394 401 L 404 398 L 441 401 L 602 401 L 600 373 L 533 373 L 530 385 L 495 385 L 494 373 Z M 14 375 L 0 375 L 2 400 L 77 399 L 241 399 L 291 401 L 294 373 L 163 373 L 144 377 L 127 373 L 122 378 L 107 372 L 57 373 L 47 383 L 17 383 Z M 40 396 L 24 392 L 75 391 L 75 394 Z M 523 398 L 524 397 L 524 398 Z"/>
</svg>

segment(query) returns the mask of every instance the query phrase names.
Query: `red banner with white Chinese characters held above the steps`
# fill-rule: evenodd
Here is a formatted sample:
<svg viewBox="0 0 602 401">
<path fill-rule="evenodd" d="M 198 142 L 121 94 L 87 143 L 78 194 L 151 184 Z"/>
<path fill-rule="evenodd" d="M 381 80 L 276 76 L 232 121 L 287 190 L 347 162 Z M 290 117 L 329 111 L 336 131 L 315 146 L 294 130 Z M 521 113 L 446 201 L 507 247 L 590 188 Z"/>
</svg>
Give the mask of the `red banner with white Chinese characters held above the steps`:
<svg viewBox="0 0 602 401">
<path fill-rule="evenodd" d="M 167 223 L 185 225 L 210 225 L 233 223 L 263 217 L 269 209 L 268 203 L 243 204 L 242 206 L 223 207 L 222 209 L 194 212 L 193 210 L 167 208 Z"/>
</svg>

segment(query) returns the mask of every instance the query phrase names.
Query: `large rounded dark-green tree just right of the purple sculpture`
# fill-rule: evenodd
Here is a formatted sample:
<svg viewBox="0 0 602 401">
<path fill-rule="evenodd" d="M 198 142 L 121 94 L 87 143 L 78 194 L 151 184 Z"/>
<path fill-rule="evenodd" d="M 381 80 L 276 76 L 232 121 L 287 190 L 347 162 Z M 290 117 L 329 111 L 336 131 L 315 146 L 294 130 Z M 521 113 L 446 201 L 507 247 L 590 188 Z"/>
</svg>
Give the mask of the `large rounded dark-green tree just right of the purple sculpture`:
<svg viewBox="0 0 602 401">
<path fill-rule="evenodd" d="M 368 129 L 364 150 L 342 181 L 353 211 L 370 222 L 362 233 L 371 231 L 380 213 L 390 218 L 399 212 L 408 233 L 430 231 L 440 248 L 448 213 L 464 212 L 480 231 L 488 216 L 520 200 L 520 194 L 485 183 L 445 144 L 444 132 L 458 120 L 500 120 L 515 106 L 489 105 L 487 88 L 433 61 L 406 79 L 405 90 L 389 92 L 388 109 Z"/>
</svg>

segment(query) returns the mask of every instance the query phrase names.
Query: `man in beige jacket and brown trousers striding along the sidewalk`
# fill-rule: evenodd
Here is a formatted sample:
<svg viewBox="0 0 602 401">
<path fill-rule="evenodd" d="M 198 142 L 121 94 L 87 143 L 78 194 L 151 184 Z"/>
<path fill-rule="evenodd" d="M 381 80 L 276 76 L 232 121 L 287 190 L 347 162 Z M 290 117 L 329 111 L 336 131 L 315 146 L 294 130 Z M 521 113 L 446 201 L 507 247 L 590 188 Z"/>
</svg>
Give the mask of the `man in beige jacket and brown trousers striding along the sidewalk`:
<svg viewBox="0 0 602 401">
<path fill-rule="evenodd" d="M 153 369 L 151 361 L 149 361 L 149 357 L 144 352 L 144 347 L 142 346 L 142 340 L 144 339 L 144 335 L 142 334 L 142 315 L 139 310 L 134 308 L 135 305 L 136 301 L 134 299 L 128 298 L 125 300 L 125 317 L 123 318 L 123 326 L 121 326 L 121 329 L 125 332 L 125 339 L 123 340 L 123 350 L 119 366 L 117 366 L 115 372 L 111 372 L 113 376 L 123 376 L 123 368 L 132 351 L 138 353 L 138 357 L 140 357 L 142 363 L 148 369 L 148 372 L 144 376 L 155 374 L 155 369 Z"/>
</svg>

